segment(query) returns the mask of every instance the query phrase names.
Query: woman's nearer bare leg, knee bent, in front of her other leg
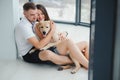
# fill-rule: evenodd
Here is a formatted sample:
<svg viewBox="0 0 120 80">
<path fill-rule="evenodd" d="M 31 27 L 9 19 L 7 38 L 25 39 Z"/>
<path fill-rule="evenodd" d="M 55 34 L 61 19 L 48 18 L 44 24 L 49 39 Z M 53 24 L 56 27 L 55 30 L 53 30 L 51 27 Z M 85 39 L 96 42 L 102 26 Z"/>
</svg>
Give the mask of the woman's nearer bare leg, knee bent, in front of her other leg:
<svg viewBox="0 0 120 80">
<path fill-rule="evenodd" d="M 67 51 L 70 52 L 70 54 L 79 61 L 80 64 L 82 64 L 85 68 L 88 68 L 88 60 L 85 58 L 81 50 L 78 48 L 78 46 L 71 40 L 64 40 L 60 44 L 57 45 L 58 51 L 61 53 L 61 55 L 66 55 Z"/>
</svg>

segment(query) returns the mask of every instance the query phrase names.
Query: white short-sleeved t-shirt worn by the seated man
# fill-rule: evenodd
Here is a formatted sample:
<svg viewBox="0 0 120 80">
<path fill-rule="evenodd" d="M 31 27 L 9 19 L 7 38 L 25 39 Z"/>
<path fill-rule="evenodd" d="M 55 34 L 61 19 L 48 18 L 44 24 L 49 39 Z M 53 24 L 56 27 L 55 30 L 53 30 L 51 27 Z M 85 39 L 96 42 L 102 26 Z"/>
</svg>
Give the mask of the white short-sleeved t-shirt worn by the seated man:
<svg viewBox="0 0 120 80">
<path fill-rule="evenodd" d="M 33 32 L 32 24 L 26 18 L 23 18 L 15 27 L 16 44 L 21 56 L 27 54 L 27 52 L 33 47 L 27 39 L 34 36 L 36 35 Z"/>
</svg>

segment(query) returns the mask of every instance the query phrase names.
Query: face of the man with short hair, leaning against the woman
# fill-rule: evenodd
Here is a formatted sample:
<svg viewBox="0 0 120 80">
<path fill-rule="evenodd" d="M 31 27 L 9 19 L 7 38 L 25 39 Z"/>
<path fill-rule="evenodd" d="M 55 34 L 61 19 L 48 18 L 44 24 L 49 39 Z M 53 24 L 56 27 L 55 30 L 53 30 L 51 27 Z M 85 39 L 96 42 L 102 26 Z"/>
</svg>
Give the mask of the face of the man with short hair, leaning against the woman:
<svg viewBox="0 0 120 80">
<path fill-rule="evenodd" d="M 37 19 L 37 9 L 29 9 L 28 11 L 24 11 L 24 15 L 30 22 L 34 22 Z"/>
</svg>

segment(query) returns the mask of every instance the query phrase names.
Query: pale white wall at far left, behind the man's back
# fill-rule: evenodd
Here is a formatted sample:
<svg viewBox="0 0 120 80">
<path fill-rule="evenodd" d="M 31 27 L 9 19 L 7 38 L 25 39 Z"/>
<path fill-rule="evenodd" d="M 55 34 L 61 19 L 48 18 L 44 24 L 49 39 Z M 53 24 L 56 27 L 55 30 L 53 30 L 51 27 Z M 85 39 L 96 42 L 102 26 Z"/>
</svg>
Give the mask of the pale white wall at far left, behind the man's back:
<svg viewBox="0 0 120 80">
<path fill-rule="evenodd" d="M 16 59 L 14 27 L 19 22 L 19 0 L 0 0 L 0 60 Z"/>
</svg>

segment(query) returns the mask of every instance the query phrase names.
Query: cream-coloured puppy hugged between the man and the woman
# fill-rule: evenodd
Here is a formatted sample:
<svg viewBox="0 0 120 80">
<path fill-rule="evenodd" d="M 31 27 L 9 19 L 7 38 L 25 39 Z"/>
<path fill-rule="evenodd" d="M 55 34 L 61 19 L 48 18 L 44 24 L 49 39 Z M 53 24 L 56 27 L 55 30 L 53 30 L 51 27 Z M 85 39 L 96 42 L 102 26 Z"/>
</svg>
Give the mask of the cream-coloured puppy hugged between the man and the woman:
<svg viewBox="0 0 120 80">
<path fill-rule="evenodd" d="M 41 21 L 36 24 L 36 27 L 42 33 L 43 37 L 46 37 L 50 31 L 50 21 Z M 59 44 L 60 40 L 59 40 L 58 34 L 59 32 L 55 30 L 55 33 L 52 36 L 50 43 L 46 45 L 45 47 L 43 47 L 42 49 L 45 50 L 45 49 L 48 49 L 49 47 Z M 80 69 L 80 63 L 76 59 L 74 59 L 71 54 L 68 54 L 68 55 L 70 56 L 70 58 L 73 60 L 75 64 L 75 68 L 71 71 L 71 73 L 74 74 Z M 68 68 L 71 68 L 71 65 L 60 66 L 58 70 L 63 70 L 63 69 L 68 69 Z"/>
</svg>

